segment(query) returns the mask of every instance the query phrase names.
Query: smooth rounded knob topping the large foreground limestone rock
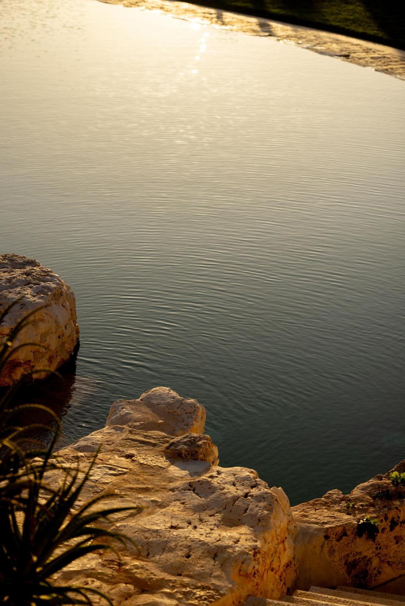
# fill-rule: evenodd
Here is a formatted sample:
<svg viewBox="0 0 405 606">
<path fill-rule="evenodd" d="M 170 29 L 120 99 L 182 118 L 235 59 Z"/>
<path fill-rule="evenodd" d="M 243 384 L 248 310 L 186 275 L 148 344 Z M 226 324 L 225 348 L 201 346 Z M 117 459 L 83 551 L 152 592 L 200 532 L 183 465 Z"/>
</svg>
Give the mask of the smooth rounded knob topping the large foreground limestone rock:
<svg viewBox="0 0 405 606">
<path fill-rule="evenodd" d="M 181 398 L 169 387 L 155 387 L 137 400 L 116 400 L 106 427 L 128 425 L 147 431 L 162 431 L 172 436 L 202 433 L 206 409 L 196 400 Z"/>
</svg>

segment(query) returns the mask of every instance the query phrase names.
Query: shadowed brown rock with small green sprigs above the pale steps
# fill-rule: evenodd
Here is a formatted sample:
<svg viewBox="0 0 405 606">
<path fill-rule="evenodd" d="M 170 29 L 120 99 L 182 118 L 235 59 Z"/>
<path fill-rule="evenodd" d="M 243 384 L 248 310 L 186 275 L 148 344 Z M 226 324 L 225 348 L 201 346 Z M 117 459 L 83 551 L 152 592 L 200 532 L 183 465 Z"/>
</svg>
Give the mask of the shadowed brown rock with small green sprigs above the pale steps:
<svg viewBox="0 0 405 606">
<path fill-rule="evenodd" d="M 405 461 L 394 470 L 405 471 Z M 373 588 L 405 574 L 405 488 L 393 486 L 389 475 L 375 476 L 350 494 L 330 490 L 292 508 L 300 559 L 296 588 Z M 377 526 L 362 525 L 365 516 Z"/>
</svg>

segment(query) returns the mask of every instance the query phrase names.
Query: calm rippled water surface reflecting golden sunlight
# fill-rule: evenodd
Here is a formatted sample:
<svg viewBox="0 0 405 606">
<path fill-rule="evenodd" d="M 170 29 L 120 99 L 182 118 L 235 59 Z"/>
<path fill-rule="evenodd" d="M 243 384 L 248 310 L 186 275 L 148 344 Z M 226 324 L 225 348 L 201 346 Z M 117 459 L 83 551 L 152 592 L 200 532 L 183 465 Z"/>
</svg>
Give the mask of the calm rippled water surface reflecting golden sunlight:
<svg viewBox="0 0 405 606">
<path fill-rule="evenodd" d="M 76 293 L 65 442 L 167 385 L 293 504 L 403 459 L 405 82 L 90 0 L 1 13 L 1 249 Z"/>
</svg>

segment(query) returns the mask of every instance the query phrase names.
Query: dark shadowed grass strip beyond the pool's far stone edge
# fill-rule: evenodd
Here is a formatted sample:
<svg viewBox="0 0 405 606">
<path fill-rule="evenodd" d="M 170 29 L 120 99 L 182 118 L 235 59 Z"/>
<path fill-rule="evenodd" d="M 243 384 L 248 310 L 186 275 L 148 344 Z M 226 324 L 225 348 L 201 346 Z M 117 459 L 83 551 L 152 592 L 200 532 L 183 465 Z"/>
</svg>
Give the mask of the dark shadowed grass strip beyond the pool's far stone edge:
<svg viewBox="0 0 405 606">
<path fill-rule="evenodd" d="M 404 0 L 204 0 L 198 4 L 405 48 Z"/>
</svg>

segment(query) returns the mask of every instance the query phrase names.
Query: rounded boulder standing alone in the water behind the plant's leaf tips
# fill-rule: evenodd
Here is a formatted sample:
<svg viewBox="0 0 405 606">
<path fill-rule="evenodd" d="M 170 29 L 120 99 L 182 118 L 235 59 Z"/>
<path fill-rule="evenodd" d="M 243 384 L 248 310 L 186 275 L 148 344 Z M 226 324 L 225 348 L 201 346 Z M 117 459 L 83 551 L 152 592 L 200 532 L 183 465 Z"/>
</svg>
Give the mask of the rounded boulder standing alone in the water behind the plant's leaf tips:
<svg viewBox="0 0 405 606">
<path fill-rule="evenodd" d="M 27 313 L 45 306 L 31 316 L 13 342 L 15 346 L 24 343 L 38 346 L 21 347 L 12 355 L 0 376 L 0 386 L 12 385 L 22 375 L 36 370 L 56 370 L 69 359 L 79 338 L 72 289 L 35 259 L 0 255 L 0 311 L 19 298 L 21 301 L 1 322 L 0 340 L 7 339 Z M 31 379 L 46 375 L 35 373 Z"/>
</svg>

